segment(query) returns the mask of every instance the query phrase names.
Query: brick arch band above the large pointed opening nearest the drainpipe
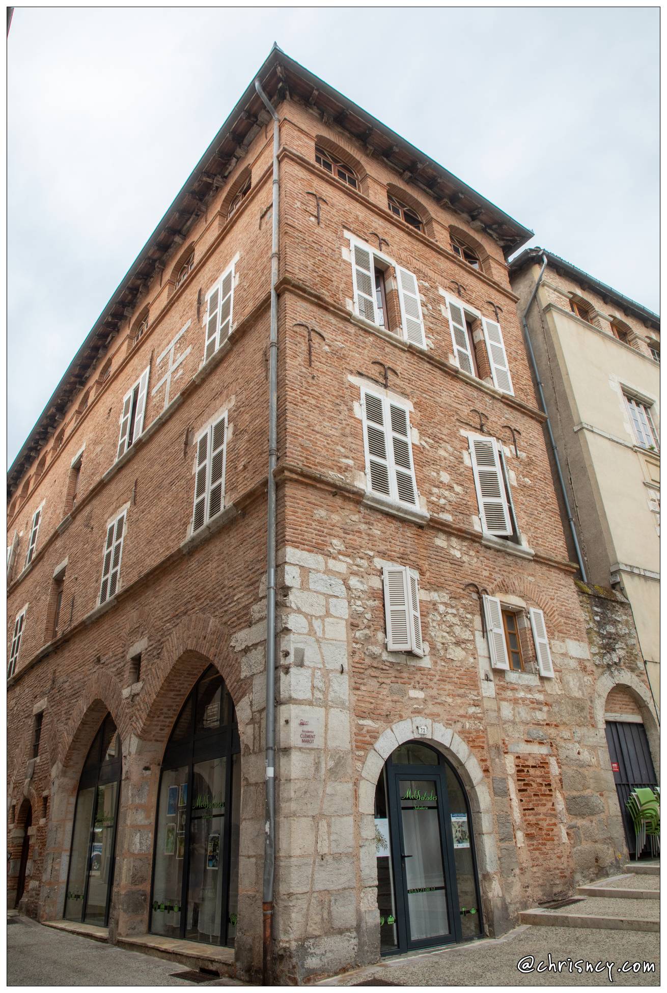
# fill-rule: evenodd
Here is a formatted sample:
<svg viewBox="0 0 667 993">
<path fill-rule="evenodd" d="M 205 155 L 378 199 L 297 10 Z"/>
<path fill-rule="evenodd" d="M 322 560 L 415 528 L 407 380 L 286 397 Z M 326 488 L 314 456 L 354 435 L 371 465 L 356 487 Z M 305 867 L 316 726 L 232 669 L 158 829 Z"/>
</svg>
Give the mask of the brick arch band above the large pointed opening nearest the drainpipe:
<svg viewBox="0 0 667 993">
<path fill-rule="evenodd" d="M 208 665 L 216 666 L 238 708 L 243 695 L 240 670 L 227 628 L 215 618 L 191 614 L 164 642 L 144 680 L 142 708 L 133 728 L 138 738 L 166 742 L 188 693 Z"/>
</svg>

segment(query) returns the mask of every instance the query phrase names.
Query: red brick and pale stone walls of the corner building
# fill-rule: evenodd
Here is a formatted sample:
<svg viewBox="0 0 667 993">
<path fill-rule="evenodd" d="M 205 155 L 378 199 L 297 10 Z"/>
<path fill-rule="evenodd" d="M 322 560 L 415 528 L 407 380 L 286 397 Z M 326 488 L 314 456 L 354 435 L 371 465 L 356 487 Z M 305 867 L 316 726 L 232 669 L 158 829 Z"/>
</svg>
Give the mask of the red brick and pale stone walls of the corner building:
<svg viewBox="0 0 667 993">
<path fill-rule="evenodd" d="M 582 606 L 568 561 L 544 418 L 502 248 L 306 101 L 282 99 L 278 110 L 274 940 L 276 975 L 302 982 L 380 954 L 375 784 L 392 751 L 422 734 L 417 725 L 466 787 L 484 926 L 499 934 L 520 910 L 565 896 L 576 882 L 625 858 L 604 742 L 606 694 L 628 686 L 646 721 L 651 718 L 636 647 L 611 665 L 595 653 L 589 629 L 596 621 Z M 316 143 L 356 171 L 357 191 L 315 164 Z M 250 193 L 227 219 L 248 175 Z M 388 190 L 418 211 L 423 233 L 389 213 Z M 326 202 L 319 222 L 313 193 Z M 39 479 L 42 452 L 18 481 L 8 526 L 8 544 L 15 531 L 20 536 L 9 586 L 9 645 L 14 619 L 27 605 L 8 693 L 8 803 L 15 808 L 10 901 L 29 801 L 33 827 L 22 906 L 39 920 L 62 916 L 83 759 L 108 711 L 123 754 L 109 936 L 145 933 L 162 752 L 189 689 L 213 662 L 233 696 L 242 745 L 235 952 L 242 977 L 256 977 L 261 963 L 269 204 L 270 134 L 258 126 L 187 242 L 175 248 L 90 370 L 44 448 Z M 453 253 L 450 233 L 462 233 L 475 248 L 479 270 Z M 382 238 L 386 253 L 417 276 L 425 349 L 355 315 L 350 234 L 371 244 Z M 176 288 L 191 245 L 194 266 Z M 203 300 L 233 259 L 234 331 L 203 363 Z M 499 308 L 513 395 L 494 387 L 479 334 L 483 378 L 454 363 L 443 295 L 451 292 L 488 319 Z M 134 344 L 146 313 L 147 329 Z M 311 336 L 310 360 L 308 328 L 318 333 Z M 170 363 L 164 354 L 182 330 L 171 361 L 185 357 L 172 373 L 165 408 L 166 381 L 158 387 Z M 381 366 L 388 369 L 386 386 Z M 143 434 L 114 461 L 123 397 L 146 367 Z M 364 385 L 400 398 L 410 410 L 418 514 L 367 496 Z M 226 509 L 191 536 L 196 440 L 225 411 Z M 468 450 L 468 434 L 479 433 L 480 425 L 502 442 L 517 543 L 481 530 Z M 82 451 L 72 508 L 72 467 Z M 23 568 L 39 506 L 36 555 Z M 120 587 L 98 607 L 106 524 L 122 507 Z M 53 639 L 47 623 L 53 576 L 65 562 Z M 418 572 L 421 657 L 387 650 L 387 564 Z M 539 674 L 527 629 L 525 670 L 492 668 L 479 599 L 469 584 L 520 614 L 544 612 L 553 679 Z M 618 610 L 622 614 L 622 605 Z M 137 651 L 141 678 L 135 681 Z M 42 742 L 32 761 L 32 715 L 42 700 Z M 304 721 L 312 730 L 305 739 Z M 43 797 L 47 810 L 40 819 Z"/>
</svg>

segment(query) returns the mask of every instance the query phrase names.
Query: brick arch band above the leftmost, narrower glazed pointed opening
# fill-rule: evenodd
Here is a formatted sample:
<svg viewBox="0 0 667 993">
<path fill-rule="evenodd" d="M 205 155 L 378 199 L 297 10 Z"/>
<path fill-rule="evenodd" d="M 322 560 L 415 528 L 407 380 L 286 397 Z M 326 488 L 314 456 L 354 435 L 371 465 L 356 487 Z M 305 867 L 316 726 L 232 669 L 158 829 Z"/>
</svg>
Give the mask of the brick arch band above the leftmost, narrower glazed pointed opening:
<svg viewBox="0 0 667 993">
<path fill-rule="evenodd" d="M 60 747 L 52 751 L 58 755 L 62 770 L 74 771 L 83 767 L 92 739 L 106 713 L 111 715 L 121 742 L 125 741 L 131 730 L 131 719 L 120 685 L 108 672 L 94 673 L 79 694 L 79 703 L 60 736 Z M 54 730 L 52 740 L 56 734 Z"/>
</svg>

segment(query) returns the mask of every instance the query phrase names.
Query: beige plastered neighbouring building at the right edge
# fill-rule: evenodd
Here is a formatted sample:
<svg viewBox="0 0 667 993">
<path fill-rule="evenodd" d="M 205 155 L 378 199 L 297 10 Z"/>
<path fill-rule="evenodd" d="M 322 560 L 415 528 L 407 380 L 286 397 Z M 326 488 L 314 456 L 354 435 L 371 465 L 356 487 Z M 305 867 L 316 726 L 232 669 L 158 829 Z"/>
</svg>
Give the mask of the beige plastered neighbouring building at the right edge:
<svg viewBox="0 0 667 993">
<path fill-rule="evenodd" d="M 526 320 L 587 580 L 630 601 L 659 707 L 660 319 L 542 248 L 510 264 L 520 315 L 544 257 Z"/>
</svg>

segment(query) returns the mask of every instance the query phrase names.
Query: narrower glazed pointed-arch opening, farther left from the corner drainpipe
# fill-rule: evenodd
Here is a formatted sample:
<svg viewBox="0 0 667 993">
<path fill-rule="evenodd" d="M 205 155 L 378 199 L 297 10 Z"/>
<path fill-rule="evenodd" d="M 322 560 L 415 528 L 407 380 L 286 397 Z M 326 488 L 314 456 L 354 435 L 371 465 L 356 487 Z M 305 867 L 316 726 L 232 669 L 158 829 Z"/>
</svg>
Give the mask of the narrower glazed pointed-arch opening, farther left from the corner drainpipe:
<svg viewBox="0 0 667 993">
<path fill-rule="evenodd" d="M 121 772 L 120 737 L 110 714 L 95 735 L 79 780 L 66 921 L 108 924 Z"/>
</svg>

